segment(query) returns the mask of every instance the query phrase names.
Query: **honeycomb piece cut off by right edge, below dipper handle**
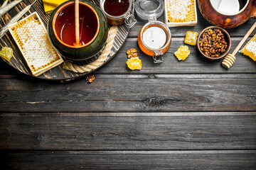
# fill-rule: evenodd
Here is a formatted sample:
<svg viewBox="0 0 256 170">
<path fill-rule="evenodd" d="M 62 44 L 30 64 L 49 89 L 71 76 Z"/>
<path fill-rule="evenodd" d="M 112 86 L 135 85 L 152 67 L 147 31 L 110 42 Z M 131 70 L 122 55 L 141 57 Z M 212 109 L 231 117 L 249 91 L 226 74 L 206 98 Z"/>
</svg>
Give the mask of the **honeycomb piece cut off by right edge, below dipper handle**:
<svg viewBox="0 0 256 170">
<path fill-rule="evenodd" d="M 252 37 L 252 39 L 247 42 L 245 47 L 241 50 L 243 55 L 247 55 L 252 58 L 252 60 L 256 61 L 256 34 Z"/>
</svg>

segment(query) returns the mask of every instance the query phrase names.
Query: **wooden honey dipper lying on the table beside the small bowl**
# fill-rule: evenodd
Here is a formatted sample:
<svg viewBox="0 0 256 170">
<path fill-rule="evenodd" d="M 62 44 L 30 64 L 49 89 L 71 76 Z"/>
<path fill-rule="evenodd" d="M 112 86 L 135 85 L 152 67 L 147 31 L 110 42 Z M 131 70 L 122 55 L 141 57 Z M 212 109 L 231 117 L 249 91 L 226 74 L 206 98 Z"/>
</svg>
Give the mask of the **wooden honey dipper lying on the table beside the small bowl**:
<svg viewBox="0 0 256 170">
<path fill-rule="evenodd" d="M 226 69 L 229 69 L 234 64 L 234 62 L 235 62 L 235 54 L 238 52 L 240 47 L 243 45 L 245 40 L 247 40 L 247 38 L 250 36 L 250 34 L 252 33 L 252 31 L 255 28 L 256 28 L 256 22 L 253 24 L 253 26 L 250 28 L 250 30 L 248 30 L 248 32 L 245 34 L 245 37 L 242 38 L 242 40 L 239 42 L 238 46 L 235 47 L 235 50 L 232 52 L 232 54 L 228 54 L 223 59 L 223 62 L 221 63 L 223 65 L 223 67 L 225 67 Z"/>
</svg>

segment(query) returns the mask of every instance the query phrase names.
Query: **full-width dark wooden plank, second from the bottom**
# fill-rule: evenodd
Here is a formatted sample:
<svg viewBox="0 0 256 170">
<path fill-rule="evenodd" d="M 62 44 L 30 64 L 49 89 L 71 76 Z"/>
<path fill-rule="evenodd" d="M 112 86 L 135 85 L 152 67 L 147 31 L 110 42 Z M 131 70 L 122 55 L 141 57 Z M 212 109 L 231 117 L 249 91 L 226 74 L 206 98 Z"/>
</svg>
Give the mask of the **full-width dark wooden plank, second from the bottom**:
<svg viewBox="0 0 256 170">
<path fill-rule="evenodd" d="M 256 113 L 99 114 L 1 113 L 0 149 L 256 149 Z"/>
</svg>

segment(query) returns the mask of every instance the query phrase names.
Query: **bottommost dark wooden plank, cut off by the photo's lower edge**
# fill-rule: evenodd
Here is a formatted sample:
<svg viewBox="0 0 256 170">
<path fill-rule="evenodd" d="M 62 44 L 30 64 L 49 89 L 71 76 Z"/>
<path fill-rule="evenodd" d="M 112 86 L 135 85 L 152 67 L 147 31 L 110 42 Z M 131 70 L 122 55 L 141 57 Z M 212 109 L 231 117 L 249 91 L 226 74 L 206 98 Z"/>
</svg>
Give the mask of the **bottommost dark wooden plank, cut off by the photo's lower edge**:
<svg viewBox="0 0 256 170">
<path fill-rule="evenodd" d="M 5 152 L 5 169 L 255 169 L 256 153 Z"/>
</svg>

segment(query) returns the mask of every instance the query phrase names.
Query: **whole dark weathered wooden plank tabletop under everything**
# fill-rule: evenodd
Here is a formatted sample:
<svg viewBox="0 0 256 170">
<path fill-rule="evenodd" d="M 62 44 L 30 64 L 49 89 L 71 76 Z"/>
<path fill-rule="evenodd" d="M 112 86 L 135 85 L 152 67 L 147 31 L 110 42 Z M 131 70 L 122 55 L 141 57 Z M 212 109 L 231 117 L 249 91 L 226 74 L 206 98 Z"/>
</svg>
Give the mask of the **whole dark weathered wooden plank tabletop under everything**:
<svg viewBox="0 0 256 170">
<path fill-rule="evenodd" d="M 29 3 L 13 8 L 1 24 Z M 0 60 L 1 167 L 256 169 L 255 62 L 238 53 L 226 70 L 221 60 L 203 60 L 193 46 L 178 62 L 174 52 L 186 31 L 210 26 L 198 11 L 195 27 L 170 28 L 171 47 L 164 62 L 154 64 L 137 45 L 146 23 L 137 21 L 92 84 L 85 77 L 65 83 L 35 79 Z M 230 52 L 254 22 L 228 29 Z M 126 67 L 131 47 L 142 60 L 140 71 Z"/>
</svg>

